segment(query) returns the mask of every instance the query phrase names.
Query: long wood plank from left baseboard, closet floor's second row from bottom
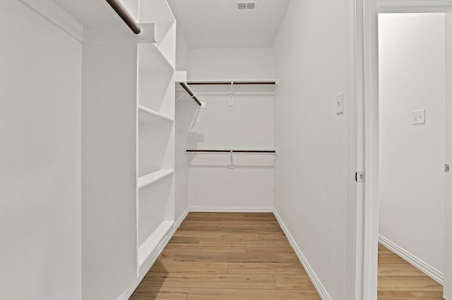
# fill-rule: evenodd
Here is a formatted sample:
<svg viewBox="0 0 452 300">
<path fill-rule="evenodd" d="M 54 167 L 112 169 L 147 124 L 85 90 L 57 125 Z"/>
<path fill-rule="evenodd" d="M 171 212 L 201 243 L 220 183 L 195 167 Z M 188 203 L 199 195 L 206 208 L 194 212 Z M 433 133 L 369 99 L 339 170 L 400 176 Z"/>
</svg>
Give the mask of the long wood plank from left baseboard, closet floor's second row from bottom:
<svg viewBox="0 0 452 300">
<path fill-rule="evenodd" d="M 207 289 L 276 289 L 273 276 L 148 273 L 140 283 L 144 287 L 189 287 Z"/>
</svg>

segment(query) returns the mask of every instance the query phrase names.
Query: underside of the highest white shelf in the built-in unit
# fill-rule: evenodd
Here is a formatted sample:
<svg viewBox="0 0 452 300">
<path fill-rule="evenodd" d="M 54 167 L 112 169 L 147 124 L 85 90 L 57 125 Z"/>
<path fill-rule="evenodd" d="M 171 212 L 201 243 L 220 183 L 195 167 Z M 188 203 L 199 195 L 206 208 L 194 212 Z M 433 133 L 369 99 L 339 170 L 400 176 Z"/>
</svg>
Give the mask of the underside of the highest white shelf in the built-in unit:
<svg viewBox="0 0 452 300">
<path fill-rule="evenodd" d="M 159 49 L 156 43 L 138 44 L 140 72 L 174 72 L 174 65 Z"/>
</svg>

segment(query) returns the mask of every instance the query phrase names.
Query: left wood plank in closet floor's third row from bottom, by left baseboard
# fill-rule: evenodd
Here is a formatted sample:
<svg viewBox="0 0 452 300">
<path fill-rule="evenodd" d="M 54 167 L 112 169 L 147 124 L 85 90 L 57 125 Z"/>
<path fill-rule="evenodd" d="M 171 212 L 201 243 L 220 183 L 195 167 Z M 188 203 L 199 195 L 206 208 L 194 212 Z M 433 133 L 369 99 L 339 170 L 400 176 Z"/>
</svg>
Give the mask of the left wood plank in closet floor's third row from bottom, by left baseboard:
<svg viewBox="0 0 452 300">
<path fill-rule="evenodd" d="M 157 259 L 151 273 L 227 274 L 227 263 L 200 263 L 190 261 L 165 261 Z"/>
</svg>

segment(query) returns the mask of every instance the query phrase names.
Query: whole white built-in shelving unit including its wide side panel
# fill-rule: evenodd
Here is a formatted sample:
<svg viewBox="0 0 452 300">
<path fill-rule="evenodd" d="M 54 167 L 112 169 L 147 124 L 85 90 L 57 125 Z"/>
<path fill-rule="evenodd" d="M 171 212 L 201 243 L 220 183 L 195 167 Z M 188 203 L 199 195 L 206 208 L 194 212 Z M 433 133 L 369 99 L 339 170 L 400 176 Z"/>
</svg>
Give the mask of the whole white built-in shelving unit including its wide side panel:
<svg viewBox="0 0 452 300">
<path fill-rule="evenodd" d="M 129 299 L 174 226 L 176 21 L 167 0 L 110 2 L 131 13 L 129 21 L 138 21 L 131 27 L 141 30 L 136 35 L 122 23 L 83 26 L 83 285 L 89 299 Z"/>
</svg>

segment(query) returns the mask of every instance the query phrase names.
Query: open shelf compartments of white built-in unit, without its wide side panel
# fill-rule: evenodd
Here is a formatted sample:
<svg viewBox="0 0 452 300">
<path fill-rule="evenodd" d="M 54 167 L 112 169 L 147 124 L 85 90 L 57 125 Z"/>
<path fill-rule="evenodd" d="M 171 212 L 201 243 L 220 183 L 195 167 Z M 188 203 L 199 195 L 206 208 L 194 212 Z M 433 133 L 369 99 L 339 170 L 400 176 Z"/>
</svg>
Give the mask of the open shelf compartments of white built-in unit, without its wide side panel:
<svg viewBox="0 0 452 300">
<path fill-rule="evenodd" d="M 169 10 L 166 1 L 153 2 Z M 138 44 L 137 54 L 138 277 L 153 264 L 174 226 L 176 23 L 170 11 L 165 16 L 140 15 L 141 22 L 156 20 L 156 42 Z"/>
</svg>

